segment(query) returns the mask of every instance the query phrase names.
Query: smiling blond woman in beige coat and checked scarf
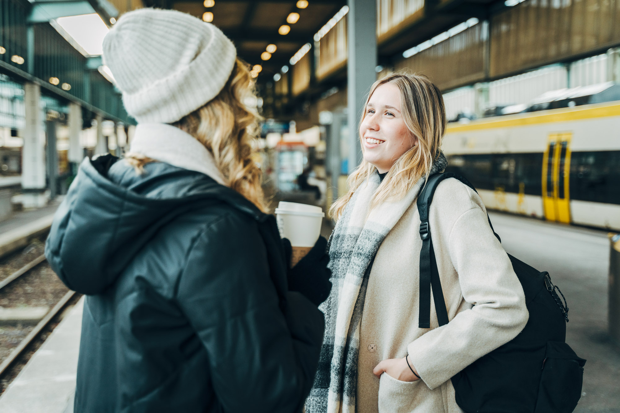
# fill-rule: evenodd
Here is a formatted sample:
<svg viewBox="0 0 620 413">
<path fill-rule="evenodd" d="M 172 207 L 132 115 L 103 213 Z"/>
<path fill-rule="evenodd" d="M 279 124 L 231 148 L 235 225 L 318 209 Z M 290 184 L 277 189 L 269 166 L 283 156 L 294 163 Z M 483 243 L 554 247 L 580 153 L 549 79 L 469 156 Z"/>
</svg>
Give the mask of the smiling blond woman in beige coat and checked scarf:
<svg viewBox="0 0 620 413">
<path fill-rule="evenodd" d="M 427 177 L 446 167 L 445 128 L 441 93 L 425 76 L 395 73 L 371 87 L 360 122 L 363 161 L 331 208 L 334 288 L 321 306 L 325 339 L 308 413 L 461 412 L 449 379 L 528 320 L 482 200 L 446 179 L 429 224 L 450 321 L 438 327 L 433 305 L 430 329 L 418 328 L 416 200 Z"/>
</svg>

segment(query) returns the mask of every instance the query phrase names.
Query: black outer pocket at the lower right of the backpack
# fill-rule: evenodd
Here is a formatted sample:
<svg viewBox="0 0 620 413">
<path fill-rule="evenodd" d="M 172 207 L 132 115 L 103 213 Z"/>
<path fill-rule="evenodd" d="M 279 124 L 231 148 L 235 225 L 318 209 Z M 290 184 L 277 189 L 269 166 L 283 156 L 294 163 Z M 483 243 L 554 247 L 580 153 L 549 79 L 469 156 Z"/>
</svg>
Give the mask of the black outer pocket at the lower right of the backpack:
<svg viewBox="0 0 620 413">
<path fill-rule="evenodd" d="M 570 413 L 581 397 L 583 358 L 564 342 L 549 341 L 534 413 Z"/>
</svg>

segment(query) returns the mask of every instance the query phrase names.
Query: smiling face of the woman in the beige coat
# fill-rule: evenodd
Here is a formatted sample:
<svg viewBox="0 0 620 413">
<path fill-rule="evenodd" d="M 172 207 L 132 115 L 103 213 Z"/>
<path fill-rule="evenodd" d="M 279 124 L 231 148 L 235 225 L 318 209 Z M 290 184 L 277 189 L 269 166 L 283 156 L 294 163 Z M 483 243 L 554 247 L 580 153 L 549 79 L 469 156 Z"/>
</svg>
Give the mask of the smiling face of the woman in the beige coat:
<svg viewBox="0 0 620 413">
<path fill-rule="evenodd" d="M 401 91 L 395 84 L 384 83 L 374 89 L 360 125 L 364 159 L 379 173 L 389 171 L 416 139 L 402 117 Z"/>
</svg>

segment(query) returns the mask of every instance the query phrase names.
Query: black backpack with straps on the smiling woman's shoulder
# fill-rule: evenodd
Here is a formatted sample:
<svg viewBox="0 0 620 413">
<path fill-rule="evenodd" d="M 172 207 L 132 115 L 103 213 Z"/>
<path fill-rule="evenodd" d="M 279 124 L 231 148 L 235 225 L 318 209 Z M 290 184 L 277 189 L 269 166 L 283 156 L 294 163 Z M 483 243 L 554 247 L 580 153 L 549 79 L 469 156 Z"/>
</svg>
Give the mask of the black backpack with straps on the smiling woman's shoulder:
<svg viewBox="0 0 620 413">
<path fill-rule="evenodd" d="M 430 328 L 431 288 L 439 325 L 448 324 L 428 226 L 428 207 L 433 193 L 446 178 L 456 178 L 476 190 L 463 176 L 444 172 L 429 177 L 418 196 L 422 238 L 420 328 Z M 495 236 L 500 239 L 497 234 Z M 557 295 L 559 288 L 553 285 L 549 273 L 539 272 L 510 254 L 508 257 L 523 286 L 529 320 L 513 340 L 452 378 L 456 403 L 467 413 L 570 413 L 581 396 L 586 360 L 577 357 L 564 342 L 569 308 Z"/>
</svg>

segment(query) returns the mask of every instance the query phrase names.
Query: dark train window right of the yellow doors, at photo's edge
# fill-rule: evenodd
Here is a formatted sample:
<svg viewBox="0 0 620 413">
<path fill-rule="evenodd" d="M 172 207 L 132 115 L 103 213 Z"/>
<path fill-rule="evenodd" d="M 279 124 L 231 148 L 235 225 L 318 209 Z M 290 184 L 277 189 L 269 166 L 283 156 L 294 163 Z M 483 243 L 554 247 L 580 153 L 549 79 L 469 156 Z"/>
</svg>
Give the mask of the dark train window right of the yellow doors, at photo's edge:
<svg viewBox="0 0 620 413">
<path fill-rule="evenodd" d="M 570 198 L 620 205 L 620 151 L 573 152 Z"/>
</svg>

